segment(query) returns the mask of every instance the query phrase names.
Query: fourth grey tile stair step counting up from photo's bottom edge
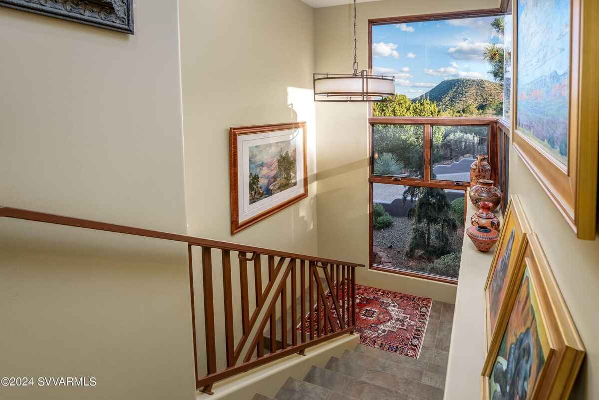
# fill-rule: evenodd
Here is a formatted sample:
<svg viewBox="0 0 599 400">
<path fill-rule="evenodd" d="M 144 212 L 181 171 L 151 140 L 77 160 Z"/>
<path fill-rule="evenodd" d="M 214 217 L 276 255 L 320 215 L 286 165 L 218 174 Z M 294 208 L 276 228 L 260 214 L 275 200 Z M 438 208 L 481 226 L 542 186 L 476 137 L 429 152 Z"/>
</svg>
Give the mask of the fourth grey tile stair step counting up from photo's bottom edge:
<svg viewBox="0 0 599 400">
<path fill-rule="evenodd" d="M 422 376 L 418 380 L 412 380 L 337 357 L 331 357 L 325 368 L 406 395 L 419 396 L 426 400 L 443 400 L 443 390 L 422 383 Z"/>
</svg>

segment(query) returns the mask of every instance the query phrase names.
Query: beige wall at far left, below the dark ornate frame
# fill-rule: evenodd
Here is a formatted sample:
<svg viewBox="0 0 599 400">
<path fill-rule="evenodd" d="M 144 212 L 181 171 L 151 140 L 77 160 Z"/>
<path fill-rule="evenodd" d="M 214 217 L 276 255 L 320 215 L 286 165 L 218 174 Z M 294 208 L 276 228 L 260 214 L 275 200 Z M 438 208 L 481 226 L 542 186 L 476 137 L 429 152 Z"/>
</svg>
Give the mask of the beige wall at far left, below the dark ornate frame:
<svg viewBox="0 0 599 400">
<path fill-rule="evenodd" d="M 186 230 L 176 2 L 135 35 L 0 8 L 0 204 Z M 191 399 L 186 247 L 0 219 L 2 399 Z"/>
</svg>

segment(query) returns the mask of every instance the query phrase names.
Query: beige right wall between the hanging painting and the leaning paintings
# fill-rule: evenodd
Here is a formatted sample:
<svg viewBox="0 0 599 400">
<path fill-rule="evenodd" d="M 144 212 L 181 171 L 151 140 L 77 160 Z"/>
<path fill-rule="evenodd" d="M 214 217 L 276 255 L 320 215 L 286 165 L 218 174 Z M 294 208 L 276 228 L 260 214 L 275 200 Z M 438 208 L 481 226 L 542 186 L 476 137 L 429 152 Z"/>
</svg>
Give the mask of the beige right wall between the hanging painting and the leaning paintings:
<svg viewBox="0 0 599 400">
<path fill-rule="evenodd" d="M 570 399 L 599 398 L 599 323 L 595 318 L 599 304 L 599 238 L 577 240 L 513 149 L 510 151 L 510 192 L 520 196 L 586 347 L 586 360 Z"/>
</svg>

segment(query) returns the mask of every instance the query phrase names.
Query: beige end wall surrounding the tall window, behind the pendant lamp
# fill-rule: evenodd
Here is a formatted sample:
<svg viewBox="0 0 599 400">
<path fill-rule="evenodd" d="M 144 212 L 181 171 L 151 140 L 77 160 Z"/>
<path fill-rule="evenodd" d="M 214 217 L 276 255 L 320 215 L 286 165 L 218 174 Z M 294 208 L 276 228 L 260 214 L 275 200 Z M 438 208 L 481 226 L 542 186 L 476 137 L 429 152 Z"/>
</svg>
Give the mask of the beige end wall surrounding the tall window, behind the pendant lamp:
<svg viewBox="0 0 599 400">
<path fill-rule="evenodd" d="M 368 19 L 496 8 L 496 0 L 383 0 L 358 4 L 358 63 L 368 68 Z M 351 71 L 353 10 L 350 5 L 318 8 L 316 72 Z M 318 250 L 320 256 L 368 263 L 368 106 L 316 106 Z M 359 269 L 366 284 L 455 301 L 455 286 Z"/>
</svg>

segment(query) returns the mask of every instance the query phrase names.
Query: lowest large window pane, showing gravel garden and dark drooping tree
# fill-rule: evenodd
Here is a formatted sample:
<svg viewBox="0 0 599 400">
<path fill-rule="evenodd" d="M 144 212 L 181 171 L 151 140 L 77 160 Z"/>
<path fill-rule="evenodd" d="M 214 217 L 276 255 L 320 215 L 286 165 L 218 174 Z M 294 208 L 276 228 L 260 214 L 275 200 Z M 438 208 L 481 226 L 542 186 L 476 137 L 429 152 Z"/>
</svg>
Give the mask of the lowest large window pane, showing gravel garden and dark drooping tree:
<svg viewBox="0 0 599 400">
<path fill-rule="evenodd" d="M 464 191 L 373 183 L 374 268 L 457 279 Z"/>
</svg>

